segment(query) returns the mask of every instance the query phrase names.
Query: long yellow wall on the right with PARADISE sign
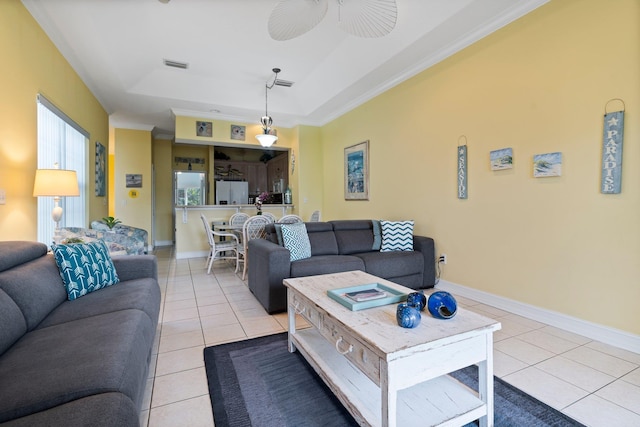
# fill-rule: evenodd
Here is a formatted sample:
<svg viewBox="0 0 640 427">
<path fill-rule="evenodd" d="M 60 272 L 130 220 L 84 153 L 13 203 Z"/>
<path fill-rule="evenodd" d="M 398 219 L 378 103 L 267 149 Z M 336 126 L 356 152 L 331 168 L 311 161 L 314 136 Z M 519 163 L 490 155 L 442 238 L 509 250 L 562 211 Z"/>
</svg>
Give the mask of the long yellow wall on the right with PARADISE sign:
<svg viewBox="0 0 640 427">
<path fill-rule="evenodd" d="M 622 194 L 603 195 L 612 98 L 626 104 Z M 640 2 L 552 1 L 325 126 L 324 217 L 414 219 L 448 255 L 444 279 L 639 334 L 639 108 Z M 367 139 L 370 201 L 344 201 L 327 165 Z M 491 171 L 506 147 L 513 169 Z M 562 176 L 533 178 L 533 155 L 555 151 Z"/>
</svg>

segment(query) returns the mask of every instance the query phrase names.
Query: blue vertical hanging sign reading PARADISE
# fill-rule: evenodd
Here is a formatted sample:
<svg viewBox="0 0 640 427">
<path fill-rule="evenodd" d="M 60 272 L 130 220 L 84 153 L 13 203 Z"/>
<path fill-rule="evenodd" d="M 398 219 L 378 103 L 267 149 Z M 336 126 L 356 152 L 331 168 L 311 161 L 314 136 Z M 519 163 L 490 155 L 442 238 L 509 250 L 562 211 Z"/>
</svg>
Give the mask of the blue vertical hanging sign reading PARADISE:
<svg viewBox="0 0 640 427">
<path fill-rule="evenodd" d="M 624 111 L 604 115 L 602 137 L 602 180 L 600 192 L 619 194 L 622 188 L 622 140 Z"/>
</svg>

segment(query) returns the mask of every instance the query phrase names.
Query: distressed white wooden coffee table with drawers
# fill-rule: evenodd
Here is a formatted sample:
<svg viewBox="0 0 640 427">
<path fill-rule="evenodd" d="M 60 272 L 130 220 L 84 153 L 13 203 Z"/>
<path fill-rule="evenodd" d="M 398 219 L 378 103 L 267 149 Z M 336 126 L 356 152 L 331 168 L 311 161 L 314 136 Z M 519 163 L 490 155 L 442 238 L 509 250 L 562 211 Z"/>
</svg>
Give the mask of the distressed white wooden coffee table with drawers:
<svg viewBox="0 0 640 427">
<path fill-rule="evenodd" d="M 285 279 L 289 351 L 296 349 L 361 425 L 493 425 L 493 332 L 499 322 L 458 308 L 448 320 L 427 311 L 417 328 L 398 326 L 397 304 L 351 311 L 331 289 L 380 283 L 360 271 Z M 311 328 L 297 330 L 295 315 Z M 477 364 L 479 390 L 449 375 Z"/>
</svg>

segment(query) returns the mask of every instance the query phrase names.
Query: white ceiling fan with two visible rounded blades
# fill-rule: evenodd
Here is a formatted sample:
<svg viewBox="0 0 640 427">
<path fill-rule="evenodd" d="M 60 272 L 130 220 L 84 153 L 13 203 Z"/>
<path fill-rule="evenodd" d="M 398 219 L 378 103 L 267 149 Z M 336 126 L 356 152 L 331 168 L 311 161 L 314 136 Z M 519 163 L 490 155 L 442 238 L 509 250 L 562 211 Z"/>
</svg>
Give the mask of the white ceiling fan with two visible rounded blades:
<svg viewBox="0 0 640 427">
<path fill-rule="evenodd" d="M 327 14 L 330 0 L 280 0 L 269 16 L 269 35 L 291 40 L 312 30 Z M 365 38 L 382 37 L 396 26 L 396 0 L 335 0 L 338 27 Z"/>
</svg>

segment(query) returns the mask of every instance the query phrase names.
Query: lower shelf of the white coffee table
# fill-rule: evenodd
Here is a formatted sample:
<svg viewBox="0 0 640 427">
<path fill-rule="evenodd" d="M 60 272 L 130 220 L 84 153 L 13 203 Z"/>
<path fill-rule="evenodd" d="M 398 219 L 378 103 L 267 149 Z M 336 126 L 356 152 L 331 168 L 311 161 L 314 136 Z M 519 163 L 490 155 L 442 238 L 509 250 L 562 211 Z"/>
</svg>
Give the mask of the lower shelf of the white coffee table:
<svg viewBox="0 0 640 427">
<path fill-rule="evenodd" d="M 296 330 L 289 336 L 356 421 L 382 425 L 380 387 L 339 354 L 315 328 Z M 486 414 L 487 407 L 478 393 L 449 375 L 398 392 L 398 426 L 461 426 Z"/>
</svg>

